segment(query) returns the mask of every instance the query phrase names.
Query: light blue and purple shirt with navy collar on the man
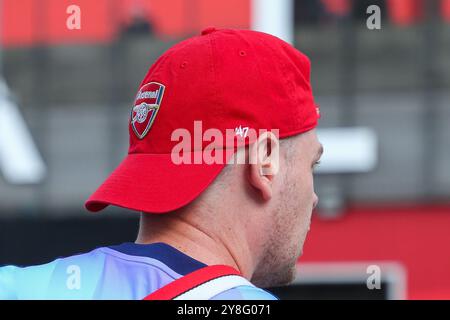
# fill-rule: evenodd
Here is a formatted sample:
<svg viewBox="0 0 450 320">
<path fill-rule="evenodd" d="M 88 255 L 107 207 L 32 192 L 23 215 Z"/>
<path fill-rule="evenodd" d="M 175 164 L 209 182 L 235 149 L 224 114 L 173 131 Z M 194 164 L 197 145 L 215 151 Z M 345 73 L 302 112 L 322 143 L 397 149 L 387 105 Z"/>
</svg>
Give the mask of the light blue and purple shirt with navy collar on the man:
<svg viewBox="0 0 450 320">
<path fill-rule="evenodd" d="M 143 299 L 206 265 L 165 243 L 97 248 L 50 263 L 0 268 L 0 299 Z M 224 291 L 212 300 L 276 300 L 252 286 Z"/>
</svg>

